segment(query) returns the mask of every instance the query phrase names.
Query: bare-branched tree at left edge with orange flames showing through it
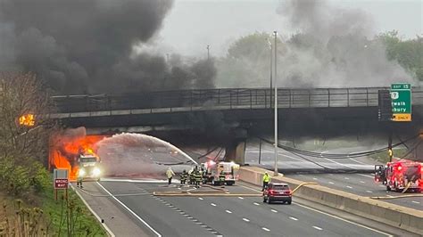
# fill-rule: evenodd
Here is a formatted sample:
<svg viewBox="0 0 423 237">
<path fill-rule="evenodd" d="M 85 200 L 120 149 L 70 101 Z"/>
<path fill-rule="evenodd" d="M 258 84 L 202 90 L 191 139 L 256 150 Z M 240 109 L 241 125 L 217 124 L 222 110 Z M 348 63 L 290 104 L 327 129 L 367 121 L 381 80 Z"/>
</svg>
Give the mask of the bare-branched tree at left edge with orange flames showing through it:
<svg viewBox="0 0 423 237">
<path fill-rule="evenodd" d="M 49 112 L 49 96 L 34 74 L 0 74 L 0 183 L 10 182 L 12 194 L 46 182 L 41 163 L 54 125 Z"/>
</svg>

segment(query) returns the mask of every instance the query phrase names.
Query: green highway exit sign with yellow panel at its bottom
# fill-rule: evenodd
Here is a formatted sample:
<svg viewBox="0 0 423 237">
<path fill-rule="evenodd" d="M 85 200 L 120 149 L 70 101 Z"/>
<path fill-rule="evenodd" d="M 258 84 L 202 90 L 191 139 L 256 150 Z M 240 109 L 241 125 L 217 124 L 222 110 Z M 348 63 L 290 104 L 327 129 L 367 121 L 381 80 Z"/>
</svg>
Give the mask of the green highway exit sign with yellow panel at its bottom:
<svg viewBox="0 0 423 237">
<path fill-rule="evenodd" d="M 411 121 L 411 84 L 395 83 L 391 85 L 393 121 Z"/>
</svg>

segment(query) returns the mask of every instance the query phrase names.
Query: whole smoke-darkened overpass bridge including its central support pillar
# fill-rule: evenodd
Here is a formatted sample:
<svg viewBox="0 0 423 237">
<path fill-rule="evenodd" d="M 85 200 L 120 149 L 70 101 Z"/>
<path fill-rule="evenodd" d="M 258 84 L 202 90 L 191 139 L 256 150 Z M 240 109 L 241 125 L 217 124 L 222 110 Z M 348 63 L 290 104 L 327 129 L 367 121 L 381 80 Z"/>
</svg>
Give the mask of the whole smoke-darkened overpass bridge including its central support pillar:
<svg viewBox="0 0 423 237">
<path fill-rule="evenodd" d="M 284 133 L 312 129 L 368 130 L 377 121 L 378 90 L 387 87 L 278 90 L 279 128 Z M 88 134 L 160 133 L 174 137 L 200 130 L 207 142 L 220 141 L 226 153 L 243 163 L 247 132 L 272 127 L 274 94 L 270 88 L 179 90 L 139 94 L 56 95 L 51 114 L 68 127 L 87 127 Z M 399 129 L 421 124 L 423 88 L 413 88 L 413 122 L 395 123 Z M 393 123 L 394 124 L 394 123 Z M 264 128 L 263 128 L 264 127 Z M 255 129 L 255 132 L 254 132 Z M 193 136 L 194 137 L 194 136 Z M 162 137 L 163 138 L 163 137 Z M 171 139 L 167 139 L 171 142 Z M 197 142 L 198 140 L 195 140 Z"/>
</svg>

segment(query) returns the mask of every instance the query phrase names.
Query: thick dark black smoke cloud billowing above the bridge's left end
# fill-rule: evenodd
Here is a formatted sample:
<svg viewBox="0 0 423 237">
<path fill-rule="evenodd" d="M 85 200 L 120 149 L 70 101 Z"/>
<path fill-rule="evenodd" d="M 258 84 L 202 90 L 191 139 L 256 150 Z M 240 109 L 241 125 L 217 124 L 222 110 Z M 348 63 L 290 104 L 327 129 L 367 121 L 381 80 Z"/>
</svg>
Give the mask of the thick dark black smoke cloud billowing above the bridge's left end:
<svg viewBox="0 0 423 237">
<path fill-rule="evenodd" d="M 31 70 L 59 93 L 213 86 L 213 61 L 179 63 L 148 45 L 172 0 L 0 0 L 0 69 Z"/>
</svg>

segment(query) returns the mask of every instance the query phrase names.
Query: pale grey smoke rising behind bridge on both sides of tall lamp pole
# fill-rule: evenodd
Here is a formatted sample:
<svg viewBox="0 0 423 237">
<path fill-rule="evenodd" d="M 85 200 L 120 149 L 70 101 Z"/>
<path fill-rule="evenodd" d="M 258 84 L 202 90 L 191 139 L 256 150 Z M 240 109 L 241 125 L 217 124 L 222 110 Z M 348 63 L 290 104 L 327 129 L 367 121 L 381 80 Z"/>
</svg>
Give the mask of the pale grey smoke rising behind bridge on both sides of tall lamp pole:
<svg viewBox="0 0 423 237">
<path fill-rule="evenodd" d="M 281 1 L 277 13 L 278 86 L 389 86 L 411 82 L 397 61 L 388 61 L 386 46 L 377 38 L 371 15 L 358 9 L 339 9 L 325 0 Z M 284 23 L 284 24 L 282 24 Z M 284 37 L 281 37 L 283 35 Z M 270 33 L 239 38 L 228 55 L 217 61 L 219 87 L 269 87 Z"/>
</svg>

